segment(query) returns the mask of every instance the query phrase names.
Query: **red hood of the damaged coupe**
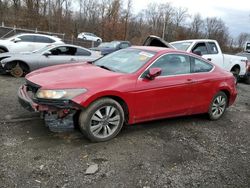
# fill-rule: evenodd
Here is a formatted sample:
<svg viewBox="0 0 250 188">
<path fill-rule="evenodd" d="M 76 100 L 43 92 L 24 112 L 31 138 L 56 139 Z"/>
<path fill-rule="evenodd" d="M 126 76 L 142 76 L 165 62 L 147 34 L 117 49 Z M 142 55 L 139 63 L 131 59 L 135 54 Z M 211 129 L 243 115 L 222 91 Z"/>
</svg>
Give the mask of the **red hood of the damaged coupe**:
<svg viewBox="0 0 250 188">
<path fill-rule="evenodd" d="M 42 68 L 28 74 L 26 79 L 44 89 L 91 89 L 100 84 L 112 85 L 125 75 L 89 63 L 74 63 Z"/>
</svg>

